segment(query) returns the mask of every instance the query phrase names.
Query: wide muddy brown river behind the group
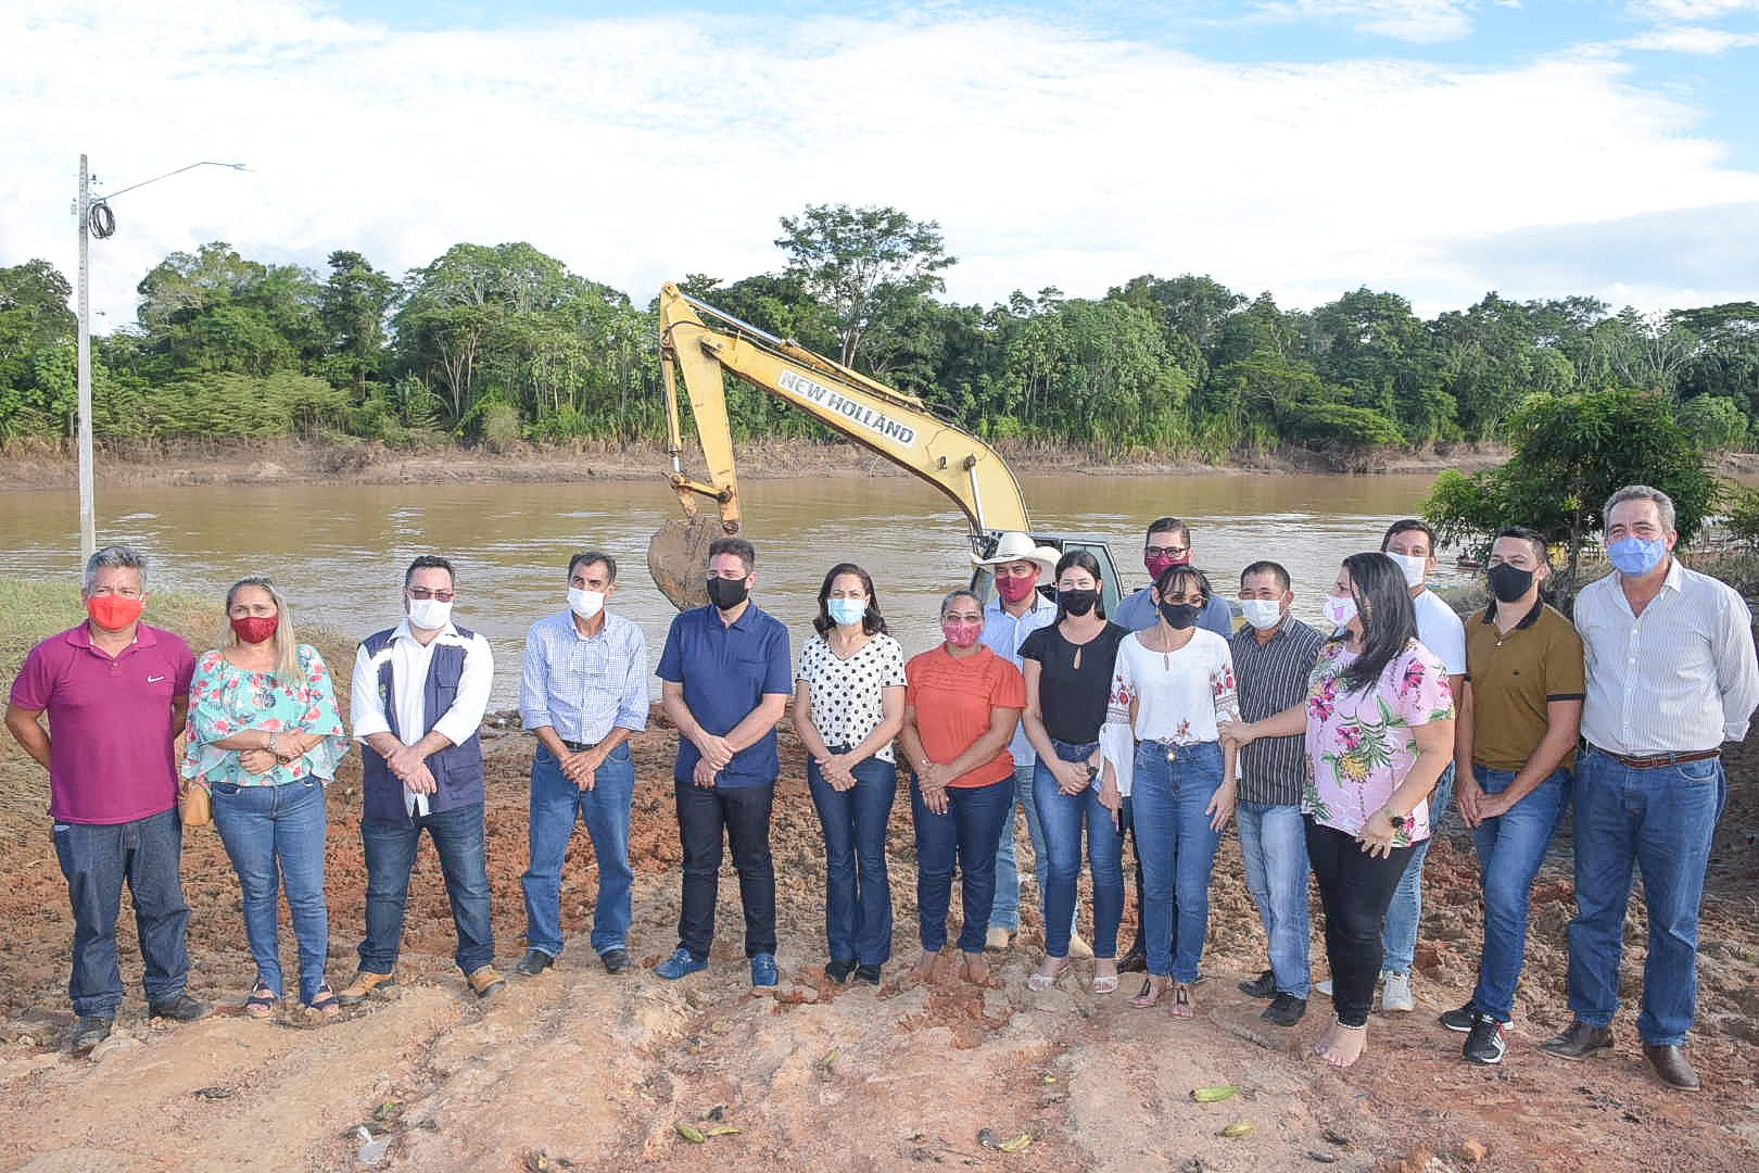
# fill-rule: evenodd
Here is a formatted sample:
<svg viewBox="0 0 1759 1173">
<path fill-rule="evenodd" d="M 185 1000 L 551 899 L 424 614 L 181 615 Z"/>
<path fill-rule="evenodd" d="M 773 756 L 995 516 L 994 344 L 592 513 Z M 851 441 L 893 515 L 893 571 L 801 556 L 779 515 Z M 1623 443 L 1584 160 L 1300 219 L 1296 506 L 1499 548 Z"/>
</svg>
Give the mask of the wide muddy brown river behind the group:
<svg viewBox="0 0 1759 1173">
<path fill-rule="evenodd" d="M 1217 591 L 1270 557 L 1289 568 L 1295 612 L 1317 623 L 1319 600 L 1346 554 L 1374 549 L 1386 524 L 1411 515 L 1428 475 L 1024 477 L 1045 533 L 1101 535 L 1126 587 L 1147 582 L 1142 533 L 1171 514 L 1191 524 L 1194 561 Z M 741 482 L 746 536 L 758 547 L 753 598 L 795 640 L 816 614 L 818 586 L 837 561 L 874 575 L 880 601 L 906 652 L 938 638 L 936 601 L 971 575 L 962 515 L 929 487 L 901 477 Z M 647 577 L 647 538 L 677 514 L 656 477 L 563 485 L 445 484 L 366 487 L 178 487 L 99 492 L 99 542 L 128 542 L 157 561 L 153 586 L 216 596 L 246 573 L 273 575 L 296 617 L 366 635 L 401 610 L 403 566 L 417 554 L 457 565 L 459 623 L 489 637 L 496 707 L 519 695 L 526 628 L 561 610 L 568 556 L 609 550 L 619 580 L 612 607 L 647 633 L 658 661 L 674 610 Z M 0 494 L 0 572 L 74 575 L 77 508 L 69 492 Z M 1462 582 L 1446 556 L 1439 584 Z M 151 612 L 148 614 L 151 617 Z"/>
</svg>

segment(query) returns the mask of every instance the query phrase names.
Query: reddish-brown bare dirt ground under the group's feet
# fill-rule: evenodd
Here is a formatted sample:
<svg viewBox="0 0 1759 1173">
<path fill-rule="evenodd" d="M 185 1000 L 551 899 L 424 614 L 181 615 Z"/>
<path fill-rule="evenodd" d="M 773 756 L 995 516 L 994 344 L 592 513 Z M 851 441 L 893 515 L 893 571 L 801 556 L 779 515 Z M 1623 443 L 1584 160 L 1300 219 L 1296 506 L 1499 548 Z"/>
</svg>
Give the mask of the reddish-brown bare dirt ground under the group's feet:
<svg viewBox="0 0 1759 1173">
<path fill-rule="evenodd" d="M 1335 1073 L 1310 1055 L 1330 1004 L 1281 1031 L 1235 990 L 1265 960 L 1263 932 L 1230 832 L 1215 865 L 1198 1016 L 1133 1009 L 1087 992 L 1091 969 L 1050 992 L 1025 976 L 1041 950 L 1036 886 L 1027 929 L 999 955 L 992 988 L 957 980 L 901 988 L 915 944 L 908 805 L 894 811 L 897 909 L 887 985 L 823 980 L 821 839 L 785 740 L 774 818 L 783 983 L 756 994 L 737 934 L 737 885 L 723 871 L 719 937 L 707 973 L 668 983 L 647 973 L 675 944 L 679 846 L 670 802 L 674 733 L 637 742 L 631 855 L 639 872 L 630 932 L 639 967 L 609 978 L 586 943 L 596 886 L 577 834 L 563 885 L 570 944 L 536 980 L 510 980 L 489 1002 L 468 995 L 450 962 L 452 927 L 431 848 L 410 900 L 401 997 L 325 1024 L 283 1011 L 243 1016 L 253 976 L 237 883 L 218 837 L 186 834 L 190 987 L 220 1002 L 204 1022 L 144 1020 L 139 953 L 125 911 L 130 1001 L 118 1041 L 91 1059 L 62 1041 L 72 925 L 49 821 L 0 807 L 0 1168 L 32 1171 L 355 1169 L 368 1136 L 389 1138 L 401 1169 L 1692 1169 L 1759 1168 L 1759 739 L 1731 760 L 1704 904 L 1699 1022 L 1692 1059 L 1704 1092 L 1662 1089 L 1645 1064 L 1634 1009 L 1613 1057 L 1567 1064 L 1536 1050 L 1567 1022 L 1564 925 L 1573 911 L 1567 839 L 1534 893 L 1527 976 L 1500 1067 L 1460 1062 L 1458 1034 L 1435 1013 L 1471 990 L 1479 909 L 1471 842 L 1444 837 L 1428 860 L 1418 1013 L 1376 1016 L 1370 1052 Z M 500 964 L 519 958 L 531 740 L 489 740 L 489 863 Z M 359 770 L 331 791 L 331 978 L 354 971 L 364 869 Z M 1031 848 L 1022 832 L 1022 858 Z M 1022 865 L 1022 871 L 1025 867 Z M 957 920 L 957 899 L 955 899 Z M 1126 914 L 1126 925 L 1135 911 Z M 285 913 L 283 913 L 285 923 Z M 1316 922 L 1317 925 L 1317 922 Z M 1643 958 L 1641 904 L 1627 930 L 1625 997 Z M 292 973 L 292 939 L 283 930 Z M 1323 973 L 1323 944 L 1314 943 Z M 1235 1085 L 1224 1103 L 1198 1087 Z M 737 1133 L 693 1143 L 679 1124 Z M 1249 1122 L 1252 1133 L 1221 1129 Z M 361 1129 L 366 1129 L 362 1133 Z M 1024 1148 L 985 1147 L 1029 1138 Z M 371 1152 L 371 1150 L 369 1150 Z M 1472 1157 L 1478 1157 L 1474 1161 Z"/>
</svg>

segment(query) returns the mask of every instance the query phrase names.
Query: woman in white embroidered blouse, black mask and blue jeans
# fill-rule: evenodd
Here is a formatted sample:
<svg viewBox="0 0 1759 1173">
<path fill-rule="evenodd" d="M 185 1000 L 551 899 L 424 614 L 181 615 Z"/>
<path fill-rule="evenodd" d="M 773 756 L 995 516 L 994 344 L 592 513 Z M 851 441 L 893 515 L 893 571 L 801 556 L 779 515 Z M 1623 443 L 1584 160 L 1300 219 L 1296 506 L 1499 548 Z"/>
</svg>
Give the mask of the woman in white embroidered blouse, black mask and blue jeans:
<svg viewBox="0 0 1759 1173">
<path fill-rule="evenodd" d="M 1208 881 L 1223 827 L 1233 814 L 1233 747 L 1221 721 L 1238 721 L 1228 640 L 1196 626 L 1208 603 L 1203 572 L 1170 566 L 1154 584 L 1159 621 L 1119 644 L 1113 693 L 1129 696 L 1136 758 L 1129 818 L 1142 856 L 1149 978 L 1136 1006 L 1173 994 L 1173 1015 L 1189 1018 L 1208 932 Z M 1171 922 L 1177 893 L 1179 922 Z"/>
</svg>

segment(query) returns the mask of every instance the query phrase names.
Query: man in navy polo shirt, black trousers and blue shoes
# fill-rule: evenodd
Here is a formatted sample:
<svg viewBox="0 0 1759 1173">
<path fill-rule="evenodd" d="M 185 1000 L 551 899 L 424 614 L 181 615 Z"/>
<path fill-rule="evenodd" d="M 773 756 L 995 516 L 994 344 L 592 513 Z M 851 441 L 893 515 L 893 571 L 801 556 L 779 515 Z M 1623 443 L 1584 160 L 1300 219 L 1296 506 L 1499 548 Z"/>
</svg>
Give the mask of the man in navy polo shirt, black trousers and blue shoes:
<svg viewBox="0 0 1759 1173">
<path fill-rule="evenodd" d="M 672 619 L 660 654 L 661 705 L 677 726 L 677 835 L 684 907 L 677 951 L 654 973 L 682 978 L 709 964 L 721 832 L 739 871 L 751 985 L 776 985 L 776 723 L 793 691 L 788 628 L 749 600 L 756 550 L 744 538 L 709 545 L 709 605 Z"/>
</svg>

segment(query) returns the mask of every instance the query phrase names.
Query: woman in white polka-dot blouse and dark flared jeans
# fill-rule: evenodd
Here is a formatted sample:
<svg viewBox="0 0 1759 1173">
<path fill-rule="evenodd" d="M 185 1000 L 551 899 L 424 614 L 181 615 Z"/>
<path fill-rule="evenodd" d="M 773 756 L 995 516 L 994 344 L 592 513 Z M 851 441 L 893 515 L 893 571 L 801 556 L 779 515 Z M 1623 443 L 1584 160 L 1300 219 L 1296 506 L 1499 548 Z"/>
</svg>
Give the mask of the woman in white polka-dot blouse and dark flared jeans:
<svg viewBox="0 0 1759 1173">
<path fill-rule="evenodd" d="M 825 974 L 880 985 L 892 957 L 885 835 L 897 797 L 892 739 L 904 723 L 904 649 L 887 635 L 872 579 L 853 563 L 825 575 L 813 628 L 800 645 L 793 728 L 825 830 Z"/>
</svg>

